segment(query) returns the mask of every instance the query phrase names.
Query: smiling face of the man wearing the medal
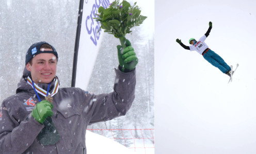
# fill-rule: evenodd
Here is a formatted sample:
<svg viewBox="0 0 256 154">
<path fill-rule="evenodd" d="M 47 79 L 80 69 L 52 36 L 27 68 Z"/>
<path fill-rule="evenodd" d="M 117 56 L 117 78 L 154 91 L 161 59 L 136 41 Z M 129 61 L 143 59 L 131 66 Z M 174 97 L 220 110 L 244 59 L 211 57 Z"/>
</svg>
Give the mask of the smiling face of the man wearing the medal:
<svg viewBox="0 0 256 154">
<path fill-rule="evenodd" d="M 52 50 L 52 49 L 44 49 Z M 53 53 L 40 53 L 32 59 L 32 65 L 27 63 L 26 68 L 31 73 L 32 80 L 38 83 L 50 83 L 56 74 L 57 59 Z"/>
</svg>

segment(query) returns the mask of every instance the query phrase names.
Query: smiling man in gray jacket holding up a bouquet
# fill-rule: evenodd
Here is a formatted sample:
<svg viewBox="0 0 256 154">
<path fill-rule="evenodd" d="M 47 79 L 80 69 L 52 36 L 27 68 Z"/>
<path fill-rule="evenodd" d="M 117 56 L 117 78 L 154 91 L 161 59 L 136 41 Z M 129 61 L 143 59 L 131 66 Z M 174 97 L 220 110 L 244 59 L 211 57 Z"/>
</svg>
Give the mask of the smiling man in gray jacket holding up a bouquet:
<svg viewBox="0 0 256 154">
<path fill-rule="evenodd" d="M 46 42 L 33 44 L 26 53 L 29 72 L 0 108 L 0 153 L 86 153 L 87 126 L 125 115 L 135 98 L 138 59 L 128 40 L 126 46 L 122 54 L 118 46 L 114 91 L 94 95 L 59 88 L 57 51 Z"/>
</svg>

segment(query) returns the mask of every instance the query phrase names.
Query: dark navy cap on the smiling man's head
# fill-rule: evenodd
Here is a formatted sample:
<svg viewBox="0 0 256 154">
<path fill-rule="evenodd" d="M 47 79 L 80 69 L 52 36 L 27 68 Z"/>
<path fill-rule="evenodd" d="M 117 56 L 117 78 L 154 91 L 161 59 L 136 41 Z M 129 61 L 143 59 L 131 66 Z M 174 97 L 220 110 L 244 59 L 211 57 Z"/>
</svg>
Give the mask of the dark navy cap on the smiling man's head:
<svg viewBox="0 0 256 154">
<path fill-rule="evenodd" d="M 50 45 L 52 48 L 53 48 L 53 51 L 41 51 L 40 48 L 43 44 L 47 44 L 47 45 L 50 45 L 49 43 L 47 42 L 38 42 L 38 43 L 35 43 L 33 45 L 31 45 L 28 50 L 27 50 L 27 53 L 26 53 L 26 60 L 25 60 L 25 65 L 27 65 L 27 63 L 33 59 L 34 56 L 36 56 L 37 54 L 39 53 L 53 53 L 56 58 L 57 58 L 57 61 L 58 61 L 58 53 L 56 51 L 56 49 Z"/>
</svg>

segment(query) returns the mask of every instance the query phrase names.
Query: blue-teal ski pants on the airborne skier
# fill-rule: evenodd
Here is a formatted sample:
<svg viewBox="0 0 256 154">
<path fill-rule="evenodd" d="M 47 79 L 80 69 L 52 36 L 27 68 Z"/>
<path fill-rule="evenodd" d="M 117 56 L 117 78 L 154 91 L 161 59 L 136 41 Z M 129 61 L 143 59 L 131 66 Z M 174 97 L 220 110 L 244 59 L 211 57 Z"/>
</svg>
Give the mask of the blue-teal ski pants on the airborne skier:
<svg viewBox="0 0 256 154">
<path fill-rule="evenodd" d="M 204 59 L 217 67 L 221 72 L 227 73 L 231 70 L 230 66 L 214 51 L 209 49 L 204 55 Z"/>
</svg>

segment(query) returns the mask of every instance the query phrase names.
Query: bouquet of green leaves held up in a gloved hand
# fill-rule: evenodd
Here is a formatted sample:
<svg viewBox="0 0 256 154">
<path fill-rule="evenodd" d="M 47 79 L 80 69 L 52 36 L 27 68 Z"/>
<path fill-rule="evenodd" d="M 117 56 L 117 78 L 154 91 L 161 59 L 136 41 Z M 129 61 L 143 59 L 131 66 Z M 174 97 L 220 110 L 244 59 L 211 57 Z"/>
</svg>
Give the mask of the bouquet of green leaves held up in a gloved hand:
<svg viewBox="0 0 256 154">
<path fill-rule="evenodd" d="M 116 0 L 106 9 L 100 7 L 99 17 L 94 19 L 101 23 L 100 29 L 119 38 L 121 46 L 125 47 L 125 34 L 131 33 L 132 27 L 139 26 L 147 18 L 140 15 L 140 12 L 136 2 L 131 6 L 127 1 L 119 4 L 119 0 Z"/>
</svg>

